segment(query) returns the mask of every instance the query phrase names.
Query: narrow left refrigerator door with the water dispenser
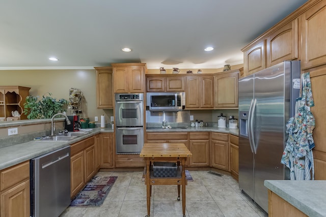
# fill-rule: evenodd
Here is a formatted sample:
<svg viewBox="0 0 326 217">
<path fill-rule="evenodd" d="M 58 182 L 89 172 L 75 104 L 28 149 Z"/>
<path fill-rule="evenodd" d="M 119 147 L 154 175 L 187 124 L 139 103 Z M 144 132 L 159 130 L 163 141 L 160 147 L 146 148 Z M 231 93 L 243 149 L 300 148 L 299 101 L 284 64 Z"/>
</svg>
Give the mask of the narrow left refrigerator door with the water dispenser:
<svg viewBox="0 0 326 217">
<path fill-rule="evenodd" d="M 254 155 L 249 141 L 249 110 L 254 98 L 254 75 L 239 80 L 239 187 L 254 198 Z"/>
</svg>

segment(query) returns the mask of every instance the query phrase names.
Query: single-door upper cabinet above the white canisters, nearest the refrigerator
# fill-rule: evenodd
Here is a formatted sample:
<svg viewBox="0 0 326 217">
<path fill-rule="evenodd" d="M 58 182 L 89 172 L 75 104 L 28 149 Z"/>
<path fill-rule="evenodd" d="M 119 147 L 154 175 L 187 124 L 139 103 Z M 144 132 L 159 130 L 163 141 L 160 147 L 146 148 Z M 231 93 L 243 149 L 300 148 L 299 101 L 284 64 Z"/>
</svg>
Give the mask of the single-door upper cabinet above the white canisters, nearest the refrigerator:
<svg viewBox="0 0 326 217">
<path fill-rule="evenodd" d="M 214 108 L 238 108 L 239 71 L 214 75 Z"/>
</svg>

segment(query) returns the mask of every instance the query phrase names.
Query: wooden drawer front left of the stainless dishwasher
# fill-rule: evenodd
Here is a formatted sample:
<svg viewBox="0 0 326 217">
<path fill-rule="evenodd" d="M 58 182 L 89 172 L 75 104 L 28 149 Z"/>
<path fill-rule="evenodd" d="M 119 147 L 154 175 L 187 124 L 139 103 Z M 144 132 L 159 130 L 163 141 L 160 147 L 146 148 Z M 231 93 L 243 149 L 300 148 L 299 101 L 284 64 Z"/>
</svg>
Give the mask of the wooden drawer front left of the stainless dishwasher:
<svg viewBox="0 0 326 217">
<path fill-rule="evenodd" d="M 26 161 L 21 164 L 4 169 L 0 173 L 0 191 L 30 177 L 30 162 Z"/>
</svg>

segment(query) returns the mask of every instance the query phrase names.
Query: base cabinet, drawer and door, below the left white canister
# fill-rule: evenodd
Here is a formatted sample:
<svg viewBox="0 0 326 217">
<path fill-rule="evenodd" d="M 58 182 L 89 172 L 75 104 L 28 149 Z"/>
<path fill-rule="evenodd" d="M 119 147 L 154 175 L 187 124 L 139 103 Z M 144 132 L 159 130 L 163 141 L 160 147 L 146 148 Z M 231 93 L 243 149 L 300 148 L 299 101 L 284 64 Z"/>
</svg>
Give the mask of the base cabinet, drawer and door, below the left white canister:
<svg viewBox="0 0 326 217">
<path fill-rule="evenodd" d="M 229 171 L 229 138 L 225 133 L 211 133 L 211 165 Z"/>
</svg>

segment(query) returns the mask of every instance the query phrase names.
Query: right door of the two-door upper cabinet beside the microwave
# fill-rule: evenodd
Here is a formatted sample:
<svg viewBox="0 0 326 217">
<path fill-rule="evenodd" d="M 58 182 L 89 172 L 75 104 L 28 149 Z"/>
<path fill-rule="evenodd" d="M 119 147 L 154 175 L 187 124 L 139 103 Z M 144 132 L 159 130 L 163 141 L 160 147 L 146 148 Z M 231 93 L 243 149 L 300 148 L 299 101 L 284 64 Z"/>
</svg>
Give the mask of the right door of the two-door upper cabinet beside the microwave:
<svg viewBox="0 0 326 217">
<path fill-rule="evenodd" d="M 201 108 L 214 107 L 214 81 L 213 77 L 201 77 Z"/>
</svg>

